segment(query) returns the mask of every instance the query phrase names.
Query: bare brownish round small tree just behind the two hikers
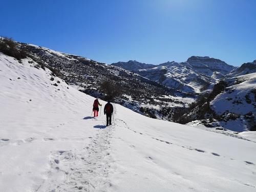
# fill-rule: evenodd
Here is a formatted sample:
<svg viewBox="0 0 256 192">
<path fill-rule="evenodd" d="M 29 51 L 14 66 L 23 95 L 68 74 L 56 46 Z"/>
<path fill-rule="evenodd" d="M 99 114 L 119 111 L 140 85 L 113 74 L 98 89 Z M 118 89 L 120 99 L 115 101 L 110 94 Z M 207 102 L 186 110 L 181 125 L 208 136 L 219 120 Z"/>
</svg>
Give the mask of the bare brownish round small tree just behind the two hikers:
<svg viewBox="0 0 256 192">
<path fill-rule="evenodd" d="M 111 100 L 111 101 L 118 95 L 122 94 L 120 87 L 111 80 L 103 81 L 100 84 L 99 90 L 106 94 L 105 96 L 106 100 Z"/>
</svg>

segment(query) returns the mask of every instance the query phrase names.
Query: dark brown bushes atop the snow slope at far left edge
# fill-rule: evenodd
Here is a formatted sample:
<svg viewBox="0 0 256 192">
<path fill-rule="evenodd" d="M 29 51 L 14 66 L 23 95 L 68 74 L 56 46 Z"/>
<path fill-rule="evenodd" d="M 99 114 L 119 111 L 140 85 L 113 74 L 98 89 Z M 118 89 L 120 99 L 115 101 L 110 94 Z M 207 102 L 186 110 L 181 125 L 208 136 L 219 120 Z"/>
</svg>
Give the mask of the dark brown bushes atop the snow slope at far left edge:
<svg viewBox="0 0 256 192">
<path fill-rule="evenodd" d="M 0 37 L 0 52 L 18 60 L 28 56 L 26 50 L 23 47 L 18 48 L 16 42 L 13 41 L 12 38 L 8 37 Z"/>
</svg>

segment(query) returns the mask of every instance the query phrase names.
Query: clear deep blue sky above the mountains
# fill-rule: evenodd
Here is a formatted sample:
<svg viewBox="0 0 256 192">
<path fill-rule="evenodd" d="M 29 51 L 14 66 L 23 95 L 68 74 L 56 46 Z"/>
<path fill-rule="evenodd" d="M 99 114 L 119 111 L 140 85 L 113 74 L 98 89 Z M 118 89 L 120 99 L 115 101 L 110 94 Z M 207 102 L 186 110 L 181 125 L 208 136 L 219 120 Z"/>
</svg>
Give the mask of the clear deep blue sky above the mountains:
<svg viewBox="0 0 256 192">
<path fill-rule="evenodd" d="M 8 0 L 0 35 L 112 63 L 256 59 L 254 0 Z"/>
</svg>

